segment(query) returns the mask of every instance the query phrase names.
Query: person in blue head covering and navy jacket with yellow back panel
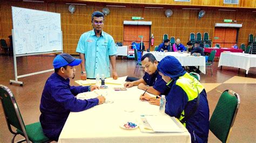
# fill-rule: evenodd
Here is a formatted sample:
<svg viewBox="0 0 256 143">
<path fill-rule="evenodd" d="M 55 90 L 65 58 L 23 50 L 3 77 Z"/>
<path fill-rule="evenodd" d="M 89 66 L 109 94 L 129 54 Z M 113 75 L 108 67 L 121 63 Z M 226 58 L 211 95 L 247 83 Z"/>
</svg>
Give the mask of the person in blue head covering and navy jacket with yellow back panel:
<svg viewBox="0 0 256 143">
<path fill-rule="evenodd" d="M 166 56 L 157 66 L 159 74 L 170 87 L 165 113 L 178 118 L 191 134 L 191 142 L 207 142 L 209 106 L 203 85 L 188 74 L 174 56 Z M 149 95 L 140 96 L 147 99 Z"/>
</svg>

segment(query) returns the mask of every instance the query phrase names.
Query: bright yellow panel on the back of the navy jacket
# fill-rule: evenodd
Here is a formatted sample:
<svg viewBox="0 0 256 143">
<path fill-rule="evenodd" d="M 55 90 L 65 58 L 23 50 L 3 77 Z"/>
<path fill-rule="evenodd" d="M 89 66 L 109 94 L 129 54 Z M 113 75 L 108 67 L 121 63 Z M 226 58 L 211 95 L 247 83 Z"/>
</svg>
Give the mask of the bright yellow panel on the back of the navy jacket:
<svg viewBox="0 0 256 143">
<path fill-rule="evenodd" d="M 201 91 L 204 90 L 204 86 L 193 76 L 186 73 L 183 76 L 180 76 L 176 82 L 176 85 L 181 87 L 187 94 L 188 102 L 196 99 Z M 197 91 L 198 90 L 198 91 Z M 181 112 L 179 120 L 185 117 L 184 110 Z M 184 123 L 184 126 L 186 124 Z"/>
</svg>

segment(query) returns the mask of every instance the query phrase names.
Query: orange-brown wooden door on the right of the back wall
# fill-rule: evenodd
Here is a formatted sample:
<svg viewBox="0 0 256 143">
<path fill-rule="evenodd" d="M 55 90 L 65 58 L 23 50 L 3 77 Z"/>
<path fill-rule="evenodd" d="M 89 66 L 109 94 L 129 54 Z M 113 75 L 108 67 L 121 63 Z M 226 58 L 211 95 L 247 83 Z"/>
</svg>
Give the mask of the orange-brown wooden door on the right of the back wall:
<svg viewBox="0 0 256 143">
<path fill-rule="evenodd" d="M 237 33 L 237 28 L 215 27 L 213 46 L 220 44 L 220 47 L 231 48 L 234 44 L 237 44 Z"/>
</svg>

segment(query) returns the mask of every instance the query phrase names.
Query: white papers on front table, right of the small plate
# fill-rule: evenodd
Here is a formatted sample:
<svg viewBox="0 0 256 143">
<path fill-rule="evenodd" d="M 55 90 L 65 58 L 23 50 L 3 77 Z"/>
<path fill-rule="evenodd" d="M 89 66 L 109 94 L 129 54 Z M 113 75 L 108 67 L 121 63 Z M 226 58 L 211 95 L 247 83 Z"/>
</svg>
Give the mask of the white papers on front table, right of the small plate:
<svg viewBox="0 0 256 143">
<path fill-rule="evenodd" d="M 168 115 L 146 116 L 146 120 L 154 132 L 184 132 L 184 128 L 175 117 Z"/>
</svg>

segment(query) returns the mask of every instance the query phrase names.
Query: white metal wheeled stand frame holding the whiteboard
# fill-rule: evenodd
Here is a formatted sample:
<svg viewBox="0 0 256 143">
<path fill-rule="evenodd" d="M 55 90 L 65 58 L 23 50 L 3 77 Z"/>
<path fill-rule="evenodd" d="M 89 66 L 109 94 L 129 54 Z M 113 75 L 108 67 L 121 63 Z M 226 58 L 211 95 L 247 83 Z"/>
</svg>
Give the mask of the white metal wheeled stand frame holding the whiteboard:
<svg viewBox="0 0 256 143">
<path fill-rule="evenodd" d="M 15 39 L 15 34 L 14 34 L 14 30 L 12 30 L 12 40 Z M 12 42 L 14 43 L 14 42 Z M 62 43 L 62 42 L 61 42 Z M 63 45 L 63 44 L 62 44 Z M 63 47 L 63 46 L 62 46 Z M 23 82 L 22 81 L 18 81 L 18 78 L 22 78 L 22 77 L 26 77 L 26 76 L 31 76 L 31 75 L 37 75 L 37 74 L 42 74 L 42 73 L 47 73 L 47 72 L 50 72 L 50 71 L 53 71 L 54 69 L 48 69 L 48 70 L 43 70 L 43 71 L 37 71 L 35 73 L 30 73 L 30 74 L 25 74 L 25 75 L 19 75 L 18 76 L 18 73 L 17 73 L 17 60 L 16 60 L 16 57 L 18 56 L 28 56 L 28 55 L 39 55 L 39 54 L 50 54 L 50 53 L 63 53 L 63 50 L 62 51 L 52 51 L 52 52 L 42 52 L 42 53 L 29 53 L 29 54 L 18 54 L 16 55 L 16 52 L 15 52 L 15 44 L 14 44 L 14 73 L 15 73 L 15 81 L 14 80 L 10 80 L 10 84 L 12 83 L 17 83 L 21 86 L 23 86 Z"/>
</svg>

